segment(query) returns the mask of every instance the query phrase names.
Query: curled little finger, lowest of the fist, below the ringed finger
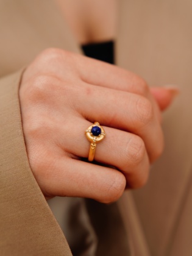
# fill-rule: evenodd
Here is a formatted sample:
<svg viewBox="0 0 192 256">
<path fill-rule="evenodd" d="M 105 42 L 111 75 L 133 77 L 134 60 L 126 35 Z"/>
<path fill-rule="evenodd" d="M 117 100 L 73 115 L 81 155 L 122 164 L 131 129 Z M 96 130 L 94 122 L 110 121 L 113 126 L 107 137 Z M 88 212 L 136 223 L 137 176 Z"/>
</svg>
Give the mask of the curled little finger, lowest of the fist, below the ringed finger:
<svg viewBox="0 0 192 256">
<path fill-rule="evenodd" d="M 46 179 L 41 177 L 48 196 L 88 197 L 110 203 L 119 199 L 126 187 L 124 175 L 116 169 L 66 157 L 54 163 L 53 169 L 47 169 Z"/>
</svg>

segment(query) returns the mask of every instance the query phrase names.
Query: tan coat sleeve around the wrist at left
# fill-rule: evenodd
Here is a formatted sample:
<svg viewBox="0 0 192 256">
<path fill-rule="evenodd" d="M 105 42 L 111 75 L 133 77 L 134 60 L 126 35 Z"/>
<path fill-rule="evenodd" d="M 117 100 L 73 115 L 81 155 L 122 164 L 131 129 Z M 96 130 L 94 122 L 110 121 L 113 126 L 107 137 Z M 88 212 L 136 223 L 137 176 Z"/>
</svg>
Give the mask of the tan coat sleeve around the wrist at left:
<svg viewBox="0 0 192 256">
<path fill-rule="evenodd" d="M 27 159 L 18 98 L 22 73 L 0 79 L 0 254 L 69 256 Z"/>
</svg>

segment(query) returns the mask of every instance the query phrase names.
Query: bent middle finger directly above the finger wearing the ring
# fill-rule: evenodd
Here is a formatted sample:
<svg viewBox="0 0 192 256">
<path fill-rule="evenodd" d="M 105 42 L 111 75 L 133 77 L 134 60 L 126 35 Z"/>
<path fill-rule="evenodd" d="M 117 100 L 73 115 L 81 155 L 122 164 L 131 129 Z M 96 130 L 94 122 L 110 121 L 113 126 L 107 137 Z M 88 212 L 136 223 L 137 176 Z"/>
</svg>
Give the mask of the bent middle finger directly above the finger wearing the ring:
<svg viewBox="0 0 192 256">
<path fill-rule="evenodd" d="M 163 150 L 163 133 L 151 102 L 138 94 L 93 86 L 82 88 L 76 109 L 84 118 L 140 136 L 153 162 Z M 84 104 L 82 104 L 84 102 Z"/>
</svg>

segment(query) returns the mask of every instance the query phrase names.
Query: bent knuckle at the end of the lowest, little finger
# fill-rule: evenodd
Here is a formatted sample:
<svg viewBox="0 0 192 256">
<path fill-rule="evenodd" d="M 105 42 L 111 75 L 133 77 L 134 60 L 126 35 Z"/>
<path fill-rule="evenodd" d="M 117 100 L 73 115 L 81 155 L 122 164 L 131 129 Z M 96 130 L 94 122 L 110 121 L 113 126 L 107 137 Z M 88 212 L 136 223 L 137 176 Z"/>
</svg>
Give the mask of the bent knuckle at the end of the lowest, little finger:
<svg viewBox="0 0 192 256">
<path fill-rule="evenodd" d="M 104 189 L 102 199 L 99 200 L 105 204 L 115 202 L 121 197 L 126 187 L 126 179 L 121 172 L 116 172 L 115 177 L 110 179 Z"/>
</svg>

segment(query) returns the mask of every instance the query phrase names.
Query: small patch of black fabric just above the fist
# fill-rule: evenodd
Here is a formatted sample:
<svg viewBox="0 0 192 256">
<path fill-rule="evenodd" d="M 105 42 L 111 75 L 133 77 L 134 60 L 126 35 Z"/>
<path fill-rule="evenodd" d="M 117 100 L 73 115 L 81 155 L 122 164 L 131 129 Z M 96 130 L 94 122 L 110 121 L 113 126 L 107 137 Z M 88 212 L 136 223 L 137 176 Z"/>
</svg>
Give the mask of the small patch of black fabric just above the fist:
<svg viewBox="0 0 192 256">
<path fill-rule="evenodd" d="M 115 63 L 114 60 L 114 41 L 105 41 L 101 43 L 91 43 L 82 45 L 84 54 L 88 57 L 102 60 L 111 64 Z"/>
</svg>

